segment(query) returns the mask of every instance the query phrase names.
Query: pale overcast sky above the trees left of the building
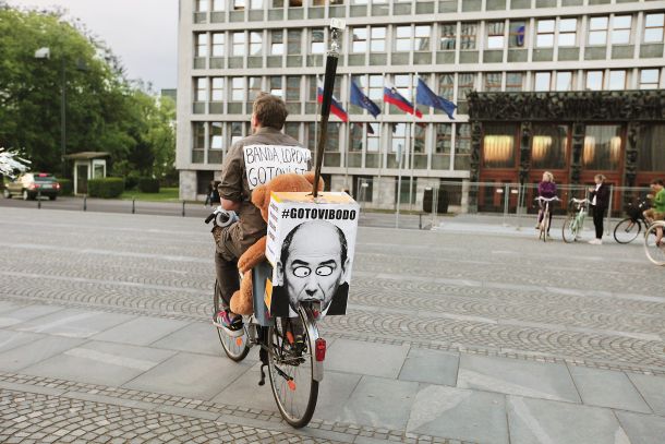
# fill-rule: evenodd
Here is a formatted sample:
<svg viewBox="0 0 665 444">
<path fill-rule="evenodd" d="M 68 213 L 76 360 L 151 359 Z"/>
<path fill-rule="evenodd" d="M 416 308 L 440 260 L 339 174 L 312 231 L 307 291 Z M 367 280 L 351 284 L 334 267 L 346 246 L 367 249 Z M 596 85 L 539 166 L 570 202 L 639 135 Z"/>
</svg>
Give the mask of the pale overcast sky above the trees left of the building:
<svg viewBox="0 0 665 444">
<path fill-rule="evenodd" d="M 174 88 L 178 0 L 8 0 L 19 7 L 61 7 L 81 19 L 122 60 L 130 79 Z"/>
</svg>

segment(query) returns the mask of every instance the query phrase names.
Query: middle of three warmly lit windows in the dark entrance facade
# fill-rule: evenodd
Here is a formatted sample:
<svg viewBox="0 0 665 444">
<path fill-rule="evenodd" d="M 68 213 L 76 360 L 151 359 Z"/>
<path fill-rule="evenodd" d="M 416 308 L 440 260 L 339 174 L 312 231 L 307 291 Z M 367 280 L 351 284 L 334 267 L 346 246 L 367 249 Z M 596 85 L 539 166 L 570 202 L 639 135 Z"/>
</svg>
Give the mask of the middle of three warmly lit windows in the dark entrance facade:
<svg viewBox="0 0 665 444">
<path fill-rule="evenodd" d="M 568 156 L 568 127 L 534 124 L 531 139 L 531 166 L 542 169 L 565 169 Z"/>
</svg>

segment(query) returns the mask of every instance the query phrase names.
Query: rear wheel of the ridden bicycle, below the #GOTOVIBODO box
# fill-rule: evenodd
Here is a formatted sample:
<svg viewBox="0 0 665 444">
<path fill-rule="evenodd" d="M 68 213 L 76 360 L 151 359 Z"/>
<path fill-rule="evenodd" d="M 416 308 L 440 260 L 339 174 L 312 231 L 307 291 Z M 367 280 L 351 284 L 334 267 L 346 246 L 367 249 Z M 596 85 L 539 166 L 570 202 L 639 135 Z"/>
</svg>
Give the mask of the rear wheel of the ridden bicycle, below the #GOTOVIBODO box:
<svg viewBox="0 0 665 444">
<path fill-rule="evenodd" d="M 318 398 L 314 344 L 318 329 L 310 312 L 278 317 L 268 329 L 270 387 L 281 417 L 300 429 L 310 423 Z"/>
</svg>

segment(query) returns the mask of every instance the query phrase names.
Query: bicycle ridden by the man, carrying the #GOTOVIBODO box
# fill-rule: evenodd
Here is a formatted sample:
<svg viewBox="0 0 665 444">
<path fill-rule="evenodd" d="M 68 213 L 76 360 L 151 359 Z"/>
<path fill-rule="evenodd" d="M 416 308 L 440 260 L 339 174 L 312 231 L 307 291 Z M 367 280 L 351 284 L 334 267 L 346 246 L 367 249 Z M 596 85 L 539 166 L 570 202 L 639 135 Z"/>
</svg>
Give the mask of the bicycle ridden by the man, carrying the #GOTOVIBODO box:
<svg viewBox="0 0 665 444">
<path fill-rule="evenodd" d="M 217 208 L 206 219 L 215 219 L 217 225 L 226 226 L 232 214 L 225 215 Z M 252 290 L 254 314 L 243 317 L 242 329 L 232 332 L 213 321 L 217 335 L 229 359 L 240 362 L 250 349 L 259 347 L 262 362 L 258 385 L 265 384 L 264 368 L 268 368 L 270 388 L 281 417 L 292 427 L 305 427 L 316 408 L 318 383 L 323 381 L 326 340 L 318 336 L 316 325 L 321 316 L 319 302 L 302 302 L 297 317 L 274 317 L 267 312 L 264 301 L 266 281 L 273 276 L 273 267 L 263 262 L 252 269 Z M 242 279 L 242 275 L 241 275 Z M 218 298 L 218 283 L 215 280 L 213 307 L 215 313 L 222 310 Z"/>
</svg>

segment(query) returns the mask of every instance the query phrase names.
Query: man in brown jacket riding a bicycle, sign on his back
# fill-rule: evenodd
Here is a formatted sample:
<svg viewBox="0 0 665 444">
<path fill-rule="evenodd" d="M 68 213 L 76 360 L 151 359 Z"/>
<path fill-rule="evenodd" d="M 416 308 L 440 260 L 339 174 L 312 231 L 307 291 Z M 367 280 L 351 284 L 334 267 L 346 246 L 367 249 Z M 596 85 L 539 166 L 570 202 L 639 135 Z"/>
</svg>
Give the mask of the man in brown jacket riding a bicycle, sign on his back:
<svg viewBox="0 0 665 444">
<path fill-rule="evenodd" d="M 252 134 L 231 146 L 221 167 L 221 207 L 237 212 L 239 220 L 213 228 L 216 296 L 222 301 L 222 310 L 214 314 L 214 321 L 231 332 L 242 328 L 242 317 L 229 308 L 231 296 L 240 288 L 238 257 L 266 235 L 266 224 L 251 201 L 252 190 L 281 172 L 304 173 L 311 167 L 310 152 L 280 132 L 287 116 L 281 98 L 261 93 L 252 106 Z M 293 147 L 302 156 L 293 155 Z"/>
</svg>

